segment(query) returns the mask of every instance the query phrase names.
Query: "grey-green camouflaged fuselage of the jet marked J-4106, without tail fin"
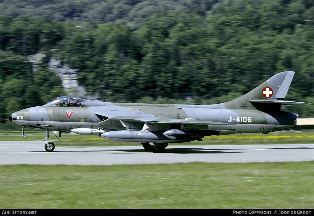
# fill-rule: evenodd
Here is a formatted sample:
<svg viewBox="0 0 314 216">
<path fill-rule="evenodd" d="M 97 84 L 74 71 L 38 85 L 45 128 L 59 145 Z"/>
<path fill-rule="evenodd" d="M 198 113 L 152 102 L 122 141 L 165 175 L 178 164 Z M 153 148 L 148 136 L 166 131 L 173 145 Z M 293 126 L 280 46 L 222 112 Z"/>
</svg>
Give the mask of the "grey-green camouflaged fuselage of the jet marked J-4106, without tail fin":
<svg viewBox="0 0 314 216">
<path fill-rule="evenodd" d="M 61 100 L 59 98 L 59 100 Z M 143 125 L 126 127 L 119 121 L 103 124 L 117 116 L 151 116 L 160 119 L 193 119 L 196 121 L 221 122 L 226 125 L 203 126 L 202 130 L 225 131 L 230 133 L 271 132 L 292 129 L 296 125 L 297 114 L 277 111 L 265 113 L 258 110 L 226 109 L 224 104 L 216 105 L 171 105 L 109 103 L 93 100 L 81 100 L 79 105 L 62 105 L 61 102 L 48 103 L 14 112 L 10 120 L 16 124 L 55 130 L 77 132 L 84 135 L 100 135 L 108 131 L 142 130 Z M 108 121 L 107 121 L 108 122 Z M 81 128 L 78 130 L 78 128 Z M 170 126 L 155 131 L 167 131 Z M 182 129 L 182 128 L 181 128 Z M 189 129 L 189 128 L 186 128 Z M 195 130 L 195 128 L 190 128 Z M 154 131 L 154 130 L 153 130 Z M 208 133 L 210 135 L 210 133 Z"/>
</svg>

